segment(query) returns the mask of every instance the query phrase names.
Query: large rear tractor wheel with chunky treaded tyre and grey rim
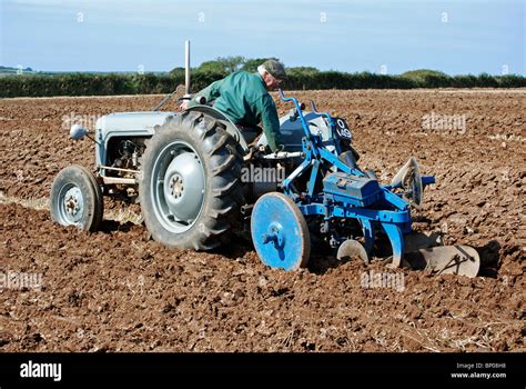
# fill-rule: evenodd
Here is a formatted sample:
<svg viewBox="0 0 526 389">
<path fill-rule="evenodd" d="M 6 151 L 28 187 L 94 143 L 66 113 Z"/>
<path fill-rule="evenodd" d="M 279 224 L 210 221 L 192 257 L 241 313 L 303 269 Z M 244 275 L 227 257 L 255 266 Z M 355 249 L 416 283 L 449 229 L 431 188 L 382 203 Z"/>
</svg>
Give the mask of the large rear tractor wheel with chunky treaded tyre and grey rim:
<svg viewBox="0 0 526 389">
<path fill-rule="evenodd" d="M 153 239 L 210 250 L 225 242 L 243 202 L 237 144 L 213 118 L 170 117 L 146 143 L 139 199 Z"/>
</svg>

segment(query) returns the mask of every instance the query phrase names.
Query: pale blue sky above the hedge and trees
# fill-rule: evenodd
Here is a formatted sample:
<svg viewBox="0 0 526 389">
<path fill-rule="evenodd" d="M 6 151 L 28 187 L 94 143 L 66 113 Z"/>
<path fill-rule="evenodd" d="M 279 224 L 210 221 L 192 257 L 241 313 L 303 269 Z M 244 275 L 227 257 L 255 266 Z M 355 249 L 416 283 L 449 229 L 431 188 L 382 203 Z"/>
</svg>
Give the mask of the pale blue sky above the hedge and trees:
<svg viewBox="0 0 526 389">
<path fill-rule="evenodd" d="M 0 64 L 161 71 L 216 57 L 401 73 L 525 73 L 525 0 L 0 0 Z"/>
</svg>

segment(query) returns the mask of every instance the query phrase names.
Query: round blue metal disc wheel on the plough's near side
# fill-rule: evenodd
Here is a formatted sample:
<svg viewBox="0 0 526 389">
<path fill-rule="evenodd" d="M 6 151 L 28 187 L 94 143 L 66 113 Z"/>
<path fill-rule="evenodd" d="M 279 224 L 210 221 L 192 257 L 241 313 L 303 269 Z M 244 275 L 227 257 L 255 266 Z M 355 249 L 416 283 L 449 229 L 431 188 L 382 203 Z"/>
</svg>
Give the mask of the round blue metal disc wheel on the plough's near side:
<svg viewBox="0 0 526 389">
<path fill-rule="evenodd" d="M 291 198 L 279 192 L 262 196 L 252 210 L 251 232 L 263 263 L 285 270 L 306 267 L 311 238 L 305 218 Z"/>
</svg>

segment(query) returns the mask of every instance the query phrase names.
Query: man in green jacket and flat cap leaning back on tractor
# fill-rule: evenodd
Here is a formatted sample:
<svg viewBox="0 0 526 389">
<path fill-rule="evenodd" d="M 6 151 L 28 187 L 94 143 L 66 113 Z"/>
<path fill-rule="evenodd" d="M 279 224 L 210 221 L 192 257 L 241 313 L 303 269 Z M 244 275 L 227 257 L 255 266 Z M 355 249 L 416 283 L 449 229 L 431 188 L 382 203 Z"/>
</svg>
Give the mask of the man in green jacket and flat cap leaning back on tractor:
<svg viewBox="0 0 526 389">
<path fill-rule="evenodd" d="M 240 70 L 212 82 L 195 93 L 195 99 L 184 101 L 181 109 L 196 106 L 201 98 L 206 102 L 213 101 L 214 108 L 241 127 L 242 132 L 250 132 L 261 122 L 269 147 L 272 151 L 276 151 L 282 147 L 280 120 L 269 91 L 276 90 L 285 79 L 284 66 L 274 59 L 269 59 L 257 67 L 256 73 Z"/>
</svg>

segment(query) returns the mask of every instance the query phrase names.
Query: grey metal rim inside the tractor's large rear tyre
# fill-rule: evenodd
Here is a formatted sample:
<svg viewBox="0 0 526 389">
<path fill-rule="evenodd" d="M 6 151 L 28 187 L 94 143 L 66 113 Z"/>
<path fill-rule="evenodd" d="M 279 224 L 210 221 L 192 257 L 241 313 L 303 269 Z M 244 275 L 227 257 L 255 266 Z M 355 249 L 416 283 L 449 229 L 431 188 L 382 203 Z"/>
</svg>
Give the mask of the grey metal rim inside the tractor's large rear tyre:
<svg viewBox="0 0 526 389">
<path fill-rule="evenodd" d="M 174 141 L 153 162 L 151 194 L 159 222 L 170 232 L 188 231 L 204 203 L 205 176 L 198 152 L 189 143 Z"/>
</svg>

